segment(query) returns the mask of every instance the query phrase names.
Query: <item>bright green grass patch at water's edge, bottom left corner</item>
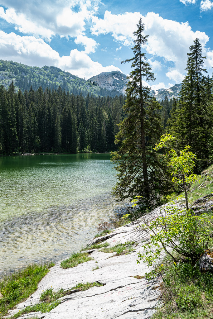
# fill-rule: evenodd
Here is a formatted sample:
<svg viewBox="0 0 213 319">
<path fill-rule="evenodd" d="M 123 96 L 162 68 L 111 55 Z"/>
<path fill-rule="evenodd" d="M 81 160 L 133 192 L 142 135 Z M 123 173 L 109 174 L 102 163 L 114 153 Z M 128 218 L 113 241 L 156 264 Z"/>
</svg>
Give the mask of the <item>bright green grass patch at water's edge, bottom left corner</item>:
<svg viewBox="0 0 213 319">
<path fill-rule="evenodd" d="M 54 263 L 28 265 L 20 271 L 3 277 L 0 280 L 0 318 L 36 291 L 39 281 L 52 266 Z"/>
</svg>

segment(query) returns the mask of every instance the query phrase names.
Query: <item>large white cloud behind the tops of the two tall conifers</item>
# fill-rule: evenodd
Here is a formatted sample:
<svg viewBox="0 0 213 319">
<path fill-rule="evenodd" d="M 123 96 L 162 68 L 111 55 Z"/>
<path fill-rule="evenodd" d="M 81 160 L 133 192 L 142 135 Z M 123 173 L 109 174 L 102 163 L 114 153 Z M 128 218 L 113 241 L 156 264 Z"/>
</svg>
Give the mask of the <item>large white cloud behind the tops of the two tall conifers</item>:
<svg viewBox="0 0 213 319">
<path fill-rule="evenodd" d="M 163 58 L 164 62 L 172 62 L 174 67 L 169 69 L 166 75 L 175 82 L 181 81 L 185 73 L 189 46 L 196 38 L 200 39 L 203 47 L 209 41 L 205 32 L 194 32 L 188 22 L 179 23 L 164 19 L 154 12 L 142 16 L 139 12 L 116 15 L 106 11 L 103 19 L 93 18 L 94 25 L 91 27 L 91 32 L 96 35 L 111 33 L 115 41 L 130 46 L 133 41 L 132 32 L 136 30 L 136 23 L 140 18 L 145 23 L 145 34 L 149 34 L 144 49 L 154 57 Z M 153 69 L 160 67 L 160 63 L 156 61 L 153 61 Z"/>
</svg>

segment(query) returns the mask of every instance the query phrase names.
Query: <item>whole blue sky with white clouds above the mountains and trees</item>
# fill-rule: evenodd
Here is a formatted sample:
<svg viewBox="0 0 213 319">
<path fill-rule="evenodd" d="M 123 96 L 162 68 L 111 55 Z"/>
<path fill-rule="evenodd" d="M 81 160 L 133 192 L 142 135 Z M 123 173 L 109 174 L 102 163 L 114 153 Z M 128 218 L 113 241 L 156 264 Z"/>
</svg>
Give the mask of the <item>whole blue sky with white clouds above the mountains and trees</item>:
<svg viewBox="0 0 213 319">
<path fill-rule="evenodd" d="M 180 83 L 196 37 L 213 66 L 213 0 L 0 0 L 0 58 L 54 65 L 88 79 L 104 71 L 128 74 L 138 20 L 149 34 L 144 46 L 154 90 Z M 144 82 L 144 84 L 146 84 Z"/>
</svg>

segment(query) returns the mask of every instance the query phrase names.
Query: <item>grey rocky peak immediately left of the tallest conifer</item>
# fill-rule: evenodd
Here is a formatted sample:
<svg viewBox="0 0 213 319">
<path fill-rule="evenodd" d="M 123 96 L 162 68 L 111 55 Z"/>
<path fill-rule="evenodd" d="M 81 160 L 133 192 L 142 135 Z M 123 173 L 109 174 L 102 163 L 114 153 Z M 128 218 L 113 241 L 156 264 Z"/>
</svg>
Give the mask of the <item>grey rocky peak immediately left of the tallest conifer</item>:
<svg viewBox="0 0 213 319">
<path fill-rule="evenodd" d="M 96 82 L 99 86 L 108 90 L 115 89 L 122 94 L 125 94 L 126 83 L 128 82 L 126 75 L 120 71 L 102 72 L 89 78 L 88 81 Z"/>
</svg>

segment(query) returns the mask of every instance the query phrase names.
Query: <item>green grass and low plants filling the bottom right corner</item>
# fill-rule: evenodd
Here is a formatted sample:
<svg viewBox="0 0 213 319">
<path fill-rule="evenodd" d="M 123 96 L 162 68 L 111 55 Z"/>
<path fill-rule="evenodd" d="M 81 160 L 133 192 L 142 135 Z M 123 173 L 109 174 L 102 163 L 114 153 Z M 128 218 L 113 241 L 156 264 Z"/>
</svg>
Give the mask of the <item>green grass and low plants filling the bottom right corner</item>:
<svg viewBox="0 0 213 319">
<path fill-rule="evenodd" d="M 153 319 L 213 318 L 212 273 L 203 274 L 191 263 L 172 264 L 163 273 L 161 297 L 164 306 L 157 310 Z"/>
</svg>

